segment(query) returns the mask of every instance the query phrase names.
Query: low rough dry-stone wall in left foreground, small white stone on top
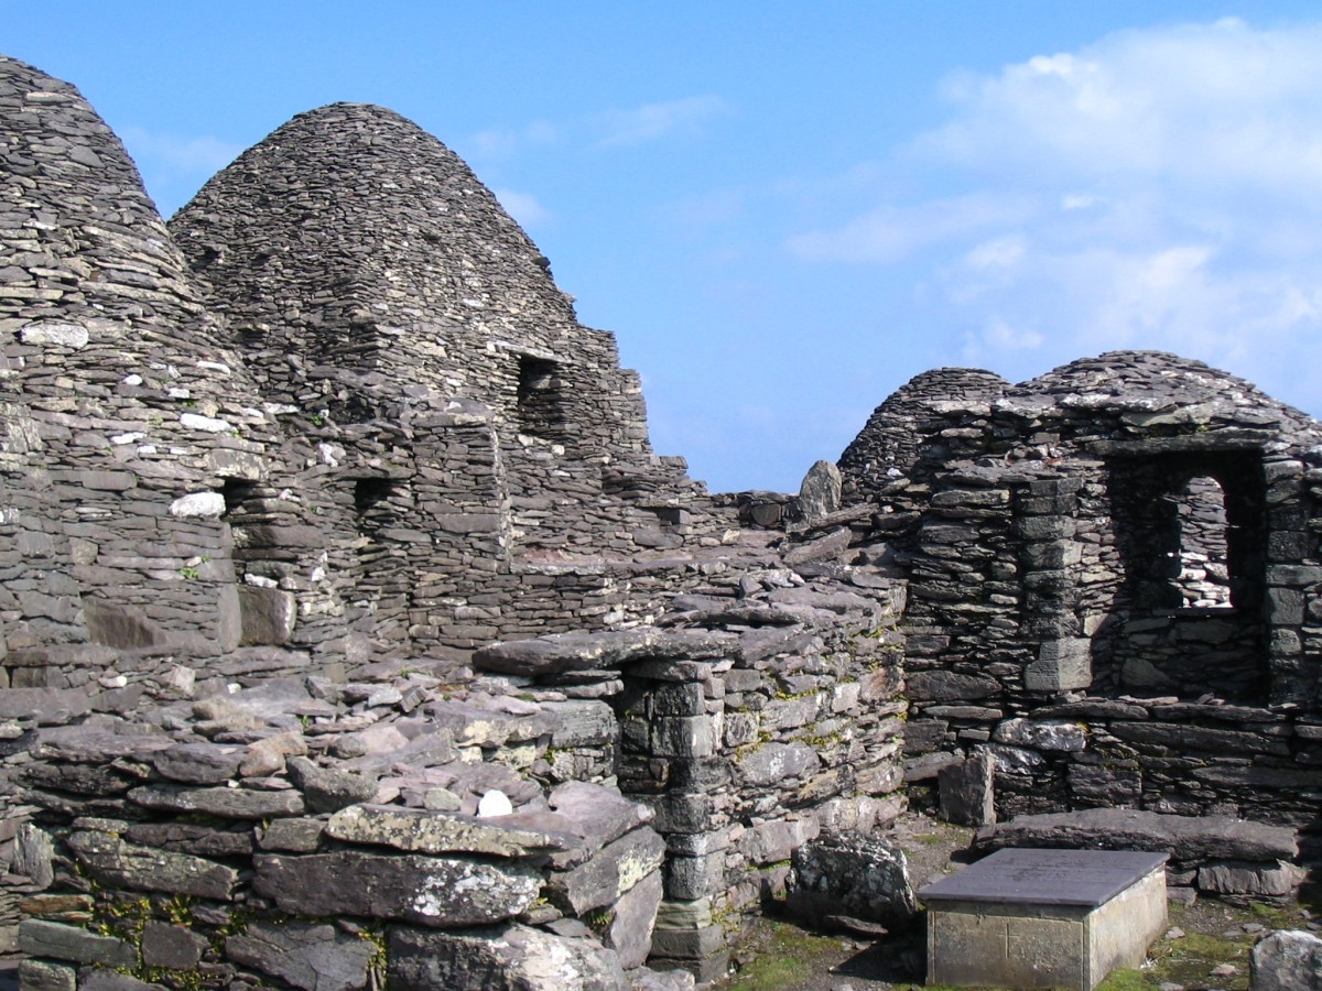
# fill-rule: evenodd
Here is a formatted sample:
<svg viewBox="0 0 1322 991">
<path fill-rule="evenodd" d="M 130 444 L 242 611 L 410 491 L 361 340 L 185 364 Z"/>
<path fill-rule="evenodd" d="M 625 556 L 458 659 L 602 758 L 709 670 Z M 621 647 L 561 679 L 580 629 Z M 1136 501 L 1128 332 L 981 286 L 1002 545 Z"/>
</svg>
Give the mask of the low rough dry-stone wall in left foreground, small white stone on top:
<svg viewBox="0 0 1322 991">
<path fill-rule="evenodd" d="M 666 850 L 607 706 L 374 674 L 9 720 L 25 986 L 691 986 L 640 969 Z"/>
</svg>

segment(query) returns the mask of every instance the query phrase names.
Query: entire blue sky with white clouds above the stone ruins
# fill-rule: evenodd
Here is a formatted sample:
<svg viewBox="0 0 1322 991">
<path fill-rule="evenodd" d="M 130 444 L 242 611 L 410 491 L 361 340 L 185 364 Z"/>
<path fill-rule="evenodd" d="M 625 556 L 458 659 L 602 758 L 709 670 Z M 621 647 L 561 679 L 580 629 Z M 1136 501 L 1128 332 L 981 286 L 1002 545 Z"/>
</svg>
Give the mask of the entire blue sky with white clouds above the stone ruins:
<svg viewBox="0 0 1322 991">
<path fill-rule="evenodd" d="M 459 152 L 642 373 L 653 445 L 796 490 L 943 365 L 1158 348 L 1322 412 L 1305 3 L 0 0 L 165 215 L 297 112 Z"/>
</svg>

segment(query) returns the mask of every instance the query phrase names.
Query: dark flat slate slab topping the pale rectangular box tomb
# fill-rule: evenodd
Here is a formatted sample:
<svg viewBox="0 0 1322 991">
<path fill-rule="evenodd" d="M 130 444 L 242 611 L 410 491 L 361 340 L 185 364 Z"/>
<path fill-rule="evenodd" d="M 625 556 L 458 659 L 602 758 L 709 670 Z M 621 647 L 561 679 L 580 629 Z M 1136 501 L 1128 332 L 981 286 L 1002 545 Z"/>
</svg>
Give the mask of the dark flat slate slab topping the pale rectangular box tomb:
<svg viewBox="0 0 1322 991">
<path fill-rule="evenodd" d="M 1118 850 L 998 850 L 919 893 L 923 901 L 1096 908 L 1158 867 L 1165 854 Z"/>
</svg>

